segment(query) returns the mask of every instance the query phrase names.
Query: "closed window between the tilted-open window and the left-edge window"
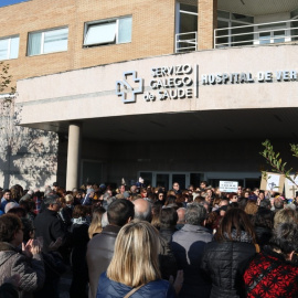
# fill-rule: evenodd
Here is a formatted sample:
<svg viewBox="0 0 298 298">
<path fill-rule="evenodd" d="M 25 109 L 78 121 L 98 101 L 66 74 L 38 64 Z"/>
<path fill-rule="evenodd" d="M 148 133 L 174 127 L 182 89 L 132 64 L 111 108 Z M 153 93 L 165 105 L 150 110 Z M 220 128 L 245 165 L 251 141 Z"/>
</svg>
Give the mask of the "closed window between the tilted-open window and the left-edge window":
<svg viewBox="0 0 298 298">
<path fill-rule="evenodd" d="M 28 55 L 67 51 L 68 28 L 29 33 Z"/>
</svg>

